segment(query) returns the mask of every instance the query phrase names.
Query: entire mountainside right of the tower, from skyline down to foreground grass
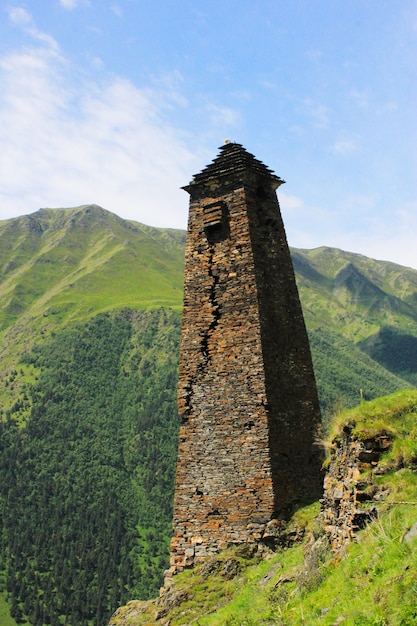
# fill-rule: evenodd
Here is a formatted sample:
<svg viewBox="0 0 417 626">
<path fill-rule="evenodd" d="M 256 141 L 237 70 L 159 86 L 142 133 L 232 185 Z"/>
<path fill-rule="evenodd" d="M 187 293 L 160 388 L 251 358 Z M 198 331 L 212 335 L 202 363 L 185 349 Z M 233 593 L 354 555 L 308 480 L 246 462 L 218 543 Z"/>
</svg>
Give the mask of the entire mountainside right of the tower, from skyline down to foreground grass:
<svg viewBox="0 0 417 626">
<path fill-rule="evenodd" d="M 292 258 L 324 414 L 415 385 L 417 271 L 335 248 Z"/>
</svg>

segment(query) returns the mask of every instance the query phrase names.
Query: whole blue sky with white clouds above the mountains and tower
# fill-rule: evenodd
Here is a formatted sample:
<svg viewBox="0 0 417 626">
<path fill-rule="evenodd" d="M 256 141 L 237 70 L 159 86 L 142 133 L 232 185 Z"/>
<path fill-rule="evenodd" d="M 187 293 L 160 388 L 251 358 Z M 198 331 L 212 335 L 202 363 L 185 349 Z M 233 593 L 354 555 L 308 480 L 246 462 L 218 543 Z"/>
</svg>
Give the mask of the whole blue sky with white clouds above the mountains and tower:
<svg viewBox="0 0 417 626">
<path fill-rule="evenodd" d="M 0 2 L 0 219 L 96 203 L 186 228 L 226 138 L 290 245 L 417 268 L 415 0 Z"/>
</svg>

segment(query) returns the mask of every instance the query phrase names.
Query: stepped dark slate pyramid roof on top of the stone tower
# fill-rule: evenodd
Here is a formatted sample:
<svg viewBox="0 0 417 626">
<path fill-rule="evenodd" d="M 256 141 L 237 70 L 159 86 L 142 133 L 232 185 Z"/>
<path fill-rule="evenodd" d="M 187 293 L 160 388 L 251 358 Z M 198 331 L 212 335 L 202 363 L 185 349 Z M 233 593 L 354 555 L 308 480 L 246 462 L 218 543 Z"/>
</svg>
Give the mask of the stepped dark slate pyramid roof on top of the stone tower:
<svg viewBox="0 0 417 626">
<path fill-rule="evenodd" d="M 200 183 L 208 182 L 210 179 L 216 178 L 228 178 L 230 175 L 238 175 L 239 177 L 246 173 L 251 172 L 260 174 L 263 177 L 272 179 L 274 188 L 283 184 L 283 181 L 279 176 L 269 169 L 266 165 L 254 157 L 253 154 L 245 150 L 240 143 L 232 143 L 228 140 L 219 148 L 220 154 L 207 165 L 199 174 L 193 176 L 189 185 L 183 187 L 187 189 Z"/>
</svg>

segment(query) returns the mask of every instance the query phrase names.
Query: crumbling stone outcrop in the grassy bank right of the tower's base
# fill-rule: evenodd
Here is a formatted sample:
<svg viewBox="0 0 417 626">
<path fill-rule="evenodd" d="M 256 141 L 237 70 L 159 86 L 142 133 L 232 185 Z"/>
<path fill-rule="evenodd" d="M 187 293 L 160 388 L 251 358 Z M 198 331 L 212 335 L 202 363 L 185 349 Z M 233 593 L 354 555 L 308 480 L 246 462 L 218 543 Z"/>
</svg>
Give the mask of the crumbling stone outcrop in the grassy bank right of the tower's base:
<svg viewBox="0 0 417 626">
<path fill-rule="evenodd" d="M 381 455 L 391 446 L 385 433 L 360 439 L 345 426 L 333 441 L 321 500 L 322 520 L 332 550 L 342 554 L 356 533 L 377 516 L 375 503 L 385 497 L 373 481 Z"/>
</svg>

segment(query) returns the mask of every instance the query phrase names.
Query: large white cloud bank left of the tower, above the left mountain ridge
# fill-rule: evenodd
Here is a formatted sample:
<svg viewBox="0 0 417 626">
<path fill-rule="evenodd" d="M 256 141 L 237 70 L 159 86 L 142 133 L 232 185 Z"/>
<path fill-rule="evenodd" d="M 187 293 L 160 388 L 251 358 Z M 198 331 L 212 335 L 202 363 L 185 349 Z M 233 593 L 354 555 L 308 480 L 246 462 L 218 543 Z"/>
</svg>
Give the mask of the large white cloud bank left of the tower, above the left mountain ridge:
<svg viewBox="0 0 417 626">
<path fill-rule="evenodd" d="M 23 13 L 19 19 L 32 28 Z M 167 81 L 138 89 L 117 76 L 98 84 L 73 72 L 47 45 L 0 57 L 0 219 L 97 203 L 129 219 L 185 227 L 180 187 L 206 156 L 192 154 L 184 134 L 163 120 L 167 102 L 181 106 Z"/>
</svg>

